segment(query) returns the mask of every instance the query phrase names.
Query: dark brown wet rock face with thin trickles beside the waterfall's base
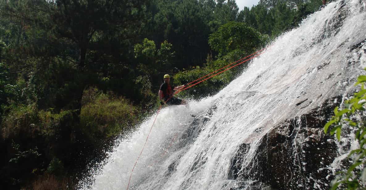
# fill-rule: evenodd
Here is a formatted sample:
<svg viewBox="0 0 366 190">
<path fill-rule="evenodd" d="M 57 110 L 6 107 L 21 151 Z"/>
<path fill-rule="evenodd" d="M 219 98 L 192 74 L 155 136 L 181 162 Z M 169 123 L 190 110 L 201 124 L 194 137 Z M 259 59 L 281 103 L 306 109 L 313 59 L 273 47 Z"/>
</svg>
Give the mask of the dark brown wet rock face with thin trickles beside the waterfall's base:
<svg viewBox="0 0 366 190">
<path fill-rule="evenodd" d="M 228 178 L 258 180 L 273 189 L 329 189 L 330 164 L 338 156 L 334 138 L 323 126 L 335 98 L 300 117 L 287 119 L 264 135 L 254 155 L 242 144 L 231 160 Z"/>
</svg>

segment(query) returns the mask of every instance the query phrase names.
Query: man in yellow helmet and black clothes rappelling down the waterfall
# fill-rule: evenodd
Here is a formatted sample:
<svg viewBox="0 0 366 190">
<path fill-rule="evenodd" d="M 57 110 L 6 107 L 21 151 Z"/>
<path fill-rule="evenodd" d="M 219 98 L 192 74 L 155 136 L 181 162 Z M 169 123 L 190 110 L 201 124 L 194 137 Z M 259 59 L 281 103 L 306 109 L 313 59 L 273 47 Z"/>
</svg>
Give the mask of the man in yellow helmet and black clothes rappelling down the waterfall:
<svg viewBox="0 0 366 190">
<path fill-rule="evenodd" d="M 170 86 L 170 75 L 164 75 L 164 83 L 161 84 L 160 89 L 159 89 L 159 99 L 160 99 L 160 103 L 161 105 L 163 104 L 168 104 L 168 105 L 179 105 L 179 104 L 184 104 L 187 105 L 187 101 L 186 100 L 181 100 L 178 98 L 175 98 L 173 96 L 174 91 L 176 90 L 180 90 L 184 87 L 184 85 L 179 86 L 179 87 L 171 87 Z"/>
</svg>

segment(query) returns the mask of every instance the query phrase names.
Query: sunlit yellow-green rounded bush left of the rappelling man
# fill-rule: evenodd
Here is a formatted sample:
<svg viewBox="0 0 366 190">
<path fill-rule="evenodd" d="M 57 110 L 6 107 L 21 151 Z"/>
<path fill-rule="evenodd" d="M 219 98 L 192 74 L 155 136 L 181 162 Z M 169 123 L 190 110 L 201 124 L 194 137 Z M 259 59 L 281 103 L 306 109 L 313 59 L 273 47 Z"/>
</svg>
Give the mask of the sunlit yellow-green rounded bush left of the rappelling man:
<svg viewBox="0 0 366 190">
<path fill-rule="evenodd" d="M 128 131 L 139 121 L 139 111 L 128 100 L 98 93 L 83 106 L 80 115 L 82 133 L 91 143 L 104 143 Z"/>
</svg>

